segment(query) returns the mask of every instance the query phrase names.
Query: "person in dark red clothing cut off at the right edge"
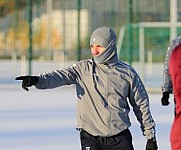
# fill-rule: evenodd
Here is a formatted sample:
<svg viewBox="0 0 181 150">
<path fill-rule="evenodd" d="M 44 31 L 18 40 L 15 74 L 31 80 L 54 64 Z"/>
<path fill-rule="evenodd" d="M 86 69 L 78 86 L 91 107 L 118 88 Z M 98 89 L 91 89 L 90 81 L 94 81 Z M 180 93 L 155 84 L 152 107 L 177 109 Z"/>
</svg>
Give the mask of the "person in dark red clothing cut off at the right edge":
<svg viewBox="0 0 181 150">
<path fill-rule="evenodd" d="M 175 98 L 175 118 L 172 124 L 170 141 L 172 150 L 181 150 L 181 44 L 174 48 L 169 61 L 173 94 Z"/>
</svg>

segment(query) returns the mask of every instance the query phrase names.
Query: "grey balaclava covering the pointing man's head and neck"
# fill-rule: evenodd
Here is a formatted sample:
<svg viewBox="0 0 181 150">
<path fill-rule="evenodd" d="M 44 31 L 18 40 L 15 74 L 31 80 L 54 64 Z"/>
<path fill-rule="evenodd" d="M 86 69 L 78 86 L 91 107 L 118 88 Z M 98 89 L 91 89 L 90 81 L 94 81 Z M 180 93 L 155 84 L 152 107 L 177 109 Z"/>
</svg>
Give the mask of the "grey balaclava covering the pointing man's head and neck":
<svg viewBox="0 0 181 150">
<path fill-rule="evenodd" d="M 105 47 L 106 50 L 99 56 L 94 56 L 95 62 L 100 64 L 112 64 L 118 61 L 116 51 L 116 34 L 109 27 L 99 27 L 91 35 L 90 45 L 96 44 Z"/>
</svg>

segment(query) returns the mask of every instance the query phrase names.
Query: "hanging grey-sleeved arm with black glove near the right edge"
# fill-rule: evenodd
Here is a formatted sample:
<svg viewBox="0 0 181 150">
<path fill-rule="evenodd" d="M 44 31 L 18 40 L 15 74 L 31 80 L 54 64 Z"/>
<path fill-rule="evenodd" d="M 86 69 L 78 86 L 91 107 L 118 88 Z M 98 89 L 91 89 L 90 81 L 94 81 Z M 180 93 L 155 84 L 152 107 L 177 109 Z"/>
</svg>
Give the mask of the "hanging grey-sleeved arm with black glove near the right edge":
<svg viewBox="0 0 181 150">
<path fill-rule="evenodd" d="M 164 63 L 164 70 L 163 70 L 163 83 L 162 83 L 162 98 L 161 98 L 161 104 L 163 106 L 169 105 L 169 97 L 170 94 L 173 93 L 173 86 L 171 77 L 168 70 L 168 64 L 169 59 L 172 51 L 177 47 L 179 44 L 181 44 L 181 36 L 175 38 L 172 40 L 171 44 L 169 45 L 165 57 L 165 63 Z"/>
</svg>

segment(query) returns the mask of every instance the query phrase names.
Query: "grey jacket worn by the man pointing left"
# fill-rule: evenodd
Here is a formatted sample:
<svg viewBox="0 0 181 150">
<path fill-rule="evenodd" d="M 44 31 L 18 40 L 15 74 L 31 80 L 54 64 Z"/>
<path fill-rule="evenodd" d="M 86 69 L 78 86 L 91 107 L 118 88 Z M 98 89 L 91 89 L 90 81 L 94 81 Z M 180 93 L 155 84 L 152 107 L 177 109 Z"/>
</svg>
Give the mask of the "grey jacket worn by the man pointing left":
<svg viewBox="0 0 181 150">
<path fill-rule="evenodd" d="M 113 136 L 131 126 L 130 105 L 147 139 L 155 137 L 149 98 L 135 70 L 117 59 L 100 64 L 92 59 L 39 75 L 38 89 L 76 86 L 77 128 L 94 136 Z"/>
</svg>

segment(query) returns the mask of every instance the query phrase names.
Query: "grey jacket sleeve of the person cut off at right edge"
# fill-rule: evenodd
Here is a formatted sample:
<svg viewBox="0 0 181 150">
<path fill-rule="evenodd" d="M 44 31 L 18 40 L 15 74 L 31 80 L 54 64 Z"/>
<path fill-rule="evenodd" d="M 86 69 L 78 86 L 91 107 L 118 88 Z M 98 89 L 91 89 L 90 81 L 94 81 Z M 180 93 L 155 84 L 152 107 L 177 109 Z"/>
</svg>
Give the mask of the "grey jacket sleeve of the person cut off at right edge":
<svg viewBox="0 0 181 150">
<path fill-rule="evenodd" d="M 167 49 L 165 62 L 164 62 L 164 69 L 163 69 L 163 83 L 161 86 L 163 92 L 167 91 L 169 93 L 173 93 L 173 86 L 172 86 L 171 76 L 169 74 L 168 64 L 172 51 L 175 49 L 175 47 L 177 47 L 180 44 L 181 44 L 181 36 L 173 39 Z"/>
</svg>

